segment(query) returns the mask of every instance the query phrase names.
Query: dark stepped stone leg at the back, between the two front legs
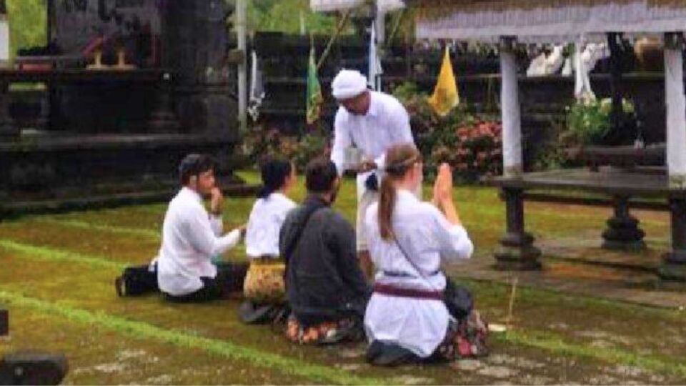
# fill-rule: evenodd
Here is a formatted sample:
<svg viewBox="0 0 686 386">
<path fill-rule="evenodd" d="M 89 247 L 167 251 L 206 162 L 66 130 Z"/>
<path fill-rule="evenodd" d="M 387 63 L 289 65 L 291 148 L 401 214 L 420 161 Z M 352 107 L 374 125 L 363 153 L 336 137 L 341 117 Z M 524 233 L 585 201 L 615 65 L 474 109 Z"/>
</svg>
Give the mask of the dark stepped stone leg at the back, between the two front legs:
<svg viewBox="0 0 686 386">
<path fill-rule="evenodd" d="M 607 220 L 602 232 L 602 247 L 613 250 L 645 249 L 645 232 L 639 229 L 639 221 L 629 214 L 629 197 L 615 196 L 615 215 Z"/>
</svg>

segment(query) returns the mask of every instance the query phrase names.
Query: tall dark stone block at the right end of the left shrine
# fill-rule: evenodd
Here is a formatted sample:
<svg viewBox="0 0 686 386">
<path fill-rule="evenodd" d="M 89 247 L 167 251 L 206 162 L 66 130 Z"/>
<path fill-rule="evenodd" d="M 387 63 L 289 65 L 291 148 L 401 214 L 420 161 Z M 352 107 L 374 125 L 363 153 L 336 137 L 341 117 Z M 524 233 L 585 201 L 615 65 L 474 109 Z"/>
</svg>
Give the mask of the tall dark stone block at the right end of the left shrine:
<svg viewBox="0 0 686 386">
<path fill-rule="evenodd" d="M 223 0 L 167 1 L 163 64 L 177 76 L 174 101 L 182 127 L 237 139 L 236 72 L 227 63 L 230 11 Z"/>
</svg>

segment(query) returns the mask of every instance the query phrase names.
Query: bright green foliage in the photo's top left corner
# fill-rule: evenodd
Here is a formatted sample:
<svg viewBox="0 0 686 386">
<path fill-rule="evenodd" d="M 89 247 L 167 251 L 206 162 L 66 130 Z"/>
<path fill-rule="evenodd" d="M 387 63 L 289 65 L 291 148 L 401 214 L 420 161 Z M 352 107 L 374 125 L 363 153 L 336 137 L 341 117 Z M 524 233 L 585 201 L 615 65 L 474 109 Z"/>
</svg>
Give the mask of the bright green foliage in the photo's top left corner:
<svg viewBox="0 0 686 386">
<path fill-rule="evenodd" d="M 13 57 L 18 49 L 46 44 L 46 0 L 7 0 L 7 12 Z"/>
</svg>

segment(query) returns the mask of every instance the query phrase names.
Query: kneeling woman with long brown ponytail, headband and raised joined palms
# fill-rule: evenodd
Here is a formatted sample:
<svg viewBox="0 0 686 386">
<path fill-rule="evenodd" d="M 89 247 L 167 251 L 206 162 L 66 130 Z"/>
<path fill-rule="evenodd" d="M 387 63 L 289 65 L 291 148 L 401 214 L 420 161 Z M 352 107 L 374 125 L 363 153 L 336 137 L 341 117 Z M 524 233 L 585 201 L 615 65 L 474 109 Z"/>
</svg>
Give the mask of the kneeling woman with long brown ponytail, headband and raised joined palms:
<svg viewBox="0 0 686 386">
<path fill-rule="evenodd" d="M 452 202 L 448 165 L 439 167 L 433 204 L 412 193 L 421 183 L 417 149 L 390 148 L 379 202 L 365 217 L 378 272 L 364 327 L 367 358 L 379 365 L 454 352 L 456 325 L 443 301 L 447 280 L 440 267 L 442 261 L 468 259 L 473 245 Z"/>
</svg>

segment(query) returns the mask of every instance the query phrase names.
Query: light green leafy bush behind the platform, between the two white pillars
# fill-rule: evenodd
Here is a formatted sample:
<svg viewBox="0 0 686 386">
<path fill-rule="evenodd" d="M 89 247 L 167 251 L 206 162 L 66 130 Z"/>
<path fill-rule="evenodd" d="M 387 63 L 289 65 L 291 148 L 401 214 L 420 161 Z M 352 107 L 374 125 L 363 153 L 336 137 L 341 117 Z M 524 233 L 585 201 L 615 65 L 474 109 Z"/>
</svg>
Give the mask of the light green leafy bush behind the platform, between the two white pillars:
<svg viewBox="0 0 686 386">
<path fill-rule="evenodd" d="M 622 100 L 626 114 L 633 114 L 634 107 L 627 99 Z M 610 133 L 612 114 L 611 99 L 595 99 L 567 107 L 567 127 L 580 144 L 602 144 Z"/>
</svg>

